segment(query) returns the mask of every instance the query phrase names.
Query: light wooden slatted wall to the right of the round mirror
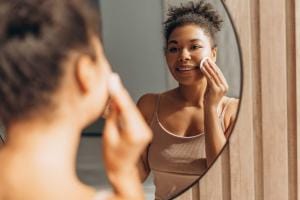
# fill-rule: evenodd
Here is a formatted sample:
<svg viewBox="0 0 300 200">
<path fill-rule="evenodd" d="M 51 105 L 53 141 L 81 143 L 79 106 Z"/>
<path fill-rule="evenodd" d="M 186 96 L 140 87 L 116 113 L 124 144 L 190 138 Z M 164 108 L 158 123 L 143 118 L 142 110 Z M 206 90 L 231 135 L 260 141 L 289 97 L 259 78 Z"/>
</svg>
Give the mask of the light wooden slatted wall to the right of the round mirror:
<svg viewBox="0 0 300 200">
<path fill-rule="evenodd" d="M 224 2 L 242 48 L 240 112 L 216 164 L 177 199 L 300 199 L 300 2 Z"/>
</svg>

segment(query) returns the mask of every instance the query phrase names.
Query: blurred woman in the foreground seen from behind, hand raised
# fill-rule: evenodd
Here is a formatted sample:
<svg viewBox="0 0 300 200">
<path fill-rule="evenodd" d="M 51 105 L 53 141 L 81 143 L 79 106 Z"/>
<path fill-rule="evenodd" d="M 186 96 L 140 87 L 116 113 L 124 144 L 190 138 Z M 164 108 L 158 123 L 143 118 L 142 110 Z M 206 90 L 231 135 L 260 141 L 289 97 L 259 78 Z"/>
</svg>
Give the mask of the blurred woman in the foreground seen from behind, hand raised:
<svg viewBox="0 0 300 200">
<path fill-rule="evenodd" d="M 0 18 L 0 199 L 143 199 L 136 163 L 150 129 L 111 73 L 93 10 L 76 0 L 0 0 Z M 102 151 L 111 194 L 75 171 L 81 132 L 108 98 Z"/>
</svg>

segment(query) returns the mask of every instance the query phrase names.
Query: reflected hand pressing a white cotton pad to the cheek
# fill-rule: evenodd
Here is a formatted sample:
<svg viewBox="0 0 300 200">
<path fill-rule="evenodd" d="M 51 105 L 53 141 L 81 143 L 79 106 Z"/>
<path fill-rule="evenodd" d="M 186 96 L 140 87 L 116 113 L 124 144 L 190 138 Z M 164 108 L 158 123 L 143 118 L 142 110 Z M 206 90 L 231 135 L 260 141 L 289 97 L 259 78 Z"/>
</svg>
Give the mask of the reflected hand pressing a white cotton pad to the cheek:
<svg viewBox="0 0 300 200">
<path fill-rule="evenodd" d="M 207 106 L 217 107 L 222 97 L 228 91 L 227 81 L 222 71 L 210 58 L 203 61 L 200 70 L 207 79 L 204 103 Z"/>
</svg>

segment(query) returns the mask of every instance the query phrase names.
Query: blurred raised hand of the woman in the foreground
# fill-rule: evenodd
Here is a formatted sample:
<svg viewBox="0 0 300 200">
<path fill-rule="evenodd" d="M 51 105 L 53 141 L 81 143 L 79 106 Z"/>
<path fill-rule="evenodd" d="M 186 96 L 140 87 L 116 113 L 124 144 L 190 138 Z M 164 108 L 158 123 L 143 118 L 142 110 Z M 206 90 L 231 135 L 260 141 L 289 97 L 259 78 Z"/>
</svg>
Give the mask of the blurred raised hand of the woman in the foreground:
<svg viewBox="0 0 300 200">
<path fill-rule="evenodd" d="M 110 113 L 103 135 L 108 178 L 121 196 L 139 199 L 141 183 L 136 165 L 150 143 L 152 133 L 116 74 L 109 80 L 109 92 Z"/>
</svg>

